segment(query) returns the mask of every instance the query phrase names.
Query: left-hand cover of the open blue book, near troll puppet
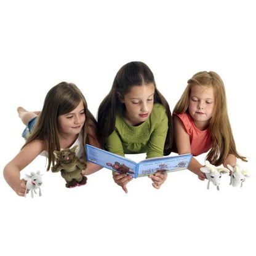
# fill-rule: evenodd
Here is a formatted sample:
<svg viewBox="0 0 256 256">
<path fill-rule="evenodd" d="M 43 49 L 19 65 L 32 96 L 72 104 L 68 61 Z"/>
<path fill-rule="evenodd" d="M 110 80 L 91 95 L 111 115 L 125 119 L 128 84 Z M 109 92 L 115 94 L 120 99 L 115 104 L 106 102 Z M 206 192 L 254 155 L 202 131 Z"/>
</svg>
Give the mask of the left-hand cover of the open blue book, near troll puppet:
<svg viewBox="0 0 256 256">
<path fill-rule="evenodd" d="M 87 161 L 98 164 L 98 166 L 114 170 L 114 172 L 119 172 L 119 174 L 131 175 L 134 178 L 137 176 L 135 175 L 137 163 L 117 154 L 86 145 L 86 156 Z"/>
</svg>

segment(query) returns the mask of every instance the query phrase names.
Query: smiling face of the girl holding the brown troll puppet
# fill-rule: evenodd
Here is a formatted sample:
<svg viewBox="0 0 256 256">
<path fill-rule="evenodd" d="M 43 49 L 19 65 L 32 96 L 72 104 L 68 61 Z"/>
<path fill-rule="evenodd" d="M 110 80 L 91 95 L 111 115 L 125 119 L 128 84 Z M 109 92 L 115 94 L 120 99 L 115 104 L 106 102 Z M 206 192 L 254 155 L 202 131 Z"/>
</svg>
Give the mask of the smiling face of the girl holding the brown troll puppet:
<svg viewBox="0 0 256 256">
<path fill-rule="evenodd" d="M 77 135 L 85 121 L 84 104 L 81 101 L 70 113 L 58 116 L 58 132 L 62 135 Z"/>
</svg>

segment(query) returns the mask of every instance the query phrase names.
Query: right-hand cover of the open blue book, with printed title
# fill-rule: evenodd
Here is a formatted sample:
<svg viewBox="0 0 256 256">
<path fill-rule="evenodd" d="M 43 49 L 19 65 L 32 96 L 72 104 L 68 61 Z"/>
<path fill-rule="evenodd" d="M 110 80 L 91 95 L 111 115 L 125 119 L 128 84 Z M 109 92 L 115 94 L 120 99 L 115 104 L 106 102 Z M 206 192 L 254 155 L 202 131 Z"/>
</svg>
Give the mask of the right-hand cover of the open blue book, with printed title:
<svg viewBox="0 0 256 256">
<path fill-rule="evenodd" d="M 185 170 L 190 164 L 192 155 L 169 156 L 163 158 L 146 159 L 138 163 L 138 177 L 143 177 L 156 172 L 174 172 Z"/>
</svg>

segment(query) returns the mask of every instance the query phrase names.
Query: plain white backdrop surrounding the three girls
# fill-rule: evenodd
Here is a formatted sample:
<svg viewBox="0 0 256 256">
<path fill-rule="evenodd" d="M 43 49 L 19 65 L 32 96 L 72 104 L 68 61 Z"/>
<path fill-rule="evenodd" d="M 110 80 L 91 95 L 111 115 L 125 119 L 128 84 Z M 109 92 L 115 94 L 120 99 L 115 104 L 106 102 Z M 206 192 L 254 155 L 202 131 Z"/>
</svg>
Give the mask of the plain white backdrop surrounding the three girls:
<svg viewBox="0 0 256 256">
<path fill-rule="evenodd" d="M 47 91 L 74 82 L 94 115 L 127 62 L 150 66 L 173 109 L 194 73 L 220 74 L 243 164 L 254 175 L 254 1 L 1 1 L 1 169 L 23 145 L 17 106 L 41 110 Z M 144 155 L 134 156 L 136 160 Z M 198 158 L 204 161 L 204 156 Z M 110 170 L 65 188 L 38 157 L 42 197 L 18 197 L 0 178 L 4 255 L 255 255 L 255 178 L 220 191 L 188 170 L 160 190 L 148 178 L 125 194 Z"/>
</svg>

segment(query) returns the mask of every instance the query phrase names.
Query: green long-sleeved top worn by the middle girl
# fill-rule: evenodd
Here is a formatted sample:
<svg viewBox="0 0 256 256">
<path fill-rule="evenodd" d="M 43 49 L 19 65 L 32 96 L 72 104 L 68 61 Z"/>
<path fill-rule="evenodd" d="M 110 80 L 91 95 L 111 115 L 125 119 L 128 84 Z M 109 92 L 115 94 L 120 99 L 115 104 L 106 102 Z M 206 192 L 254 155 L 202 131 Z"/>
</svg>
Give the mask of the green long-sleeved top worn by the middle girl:
<svg viewBox="0 0 256 256">
<path fill-rule="evenodd" d="M 168 130 L 166 109 L 154 103 L 153 110 L 145 122 L 139 126 L 128 124 L 122 110 L 117 110 L 113 133 L 106 139 L 108 151 L 124 154 L 146 153 L 146 158 L 163 156 L 164 143 Z"/>
</svg>

